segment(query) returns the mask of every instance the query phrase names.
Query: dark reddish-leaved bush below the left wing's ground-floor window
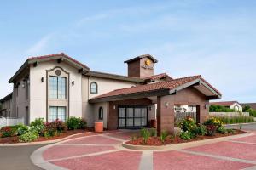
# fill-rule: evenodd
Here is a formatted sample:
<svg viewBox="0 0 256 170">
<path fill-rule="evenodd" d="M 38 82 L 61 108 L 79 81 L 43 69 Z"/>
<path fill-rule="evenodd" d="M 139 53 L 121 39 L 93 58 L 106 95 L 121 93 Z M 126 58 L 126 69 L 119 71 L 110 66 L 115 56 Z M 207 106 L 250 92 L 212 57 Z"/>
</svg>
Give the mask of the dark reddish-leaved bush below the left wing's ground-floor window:
<svg viewBox="0 0 256 170">
<path fill-rule="evenodd" d="M 58 135 L 59 133 L 67 131 L 67 125 L 58 119 L 53 122 L 46 122 L 44 124 L 44 137 Z"/>
</svg>

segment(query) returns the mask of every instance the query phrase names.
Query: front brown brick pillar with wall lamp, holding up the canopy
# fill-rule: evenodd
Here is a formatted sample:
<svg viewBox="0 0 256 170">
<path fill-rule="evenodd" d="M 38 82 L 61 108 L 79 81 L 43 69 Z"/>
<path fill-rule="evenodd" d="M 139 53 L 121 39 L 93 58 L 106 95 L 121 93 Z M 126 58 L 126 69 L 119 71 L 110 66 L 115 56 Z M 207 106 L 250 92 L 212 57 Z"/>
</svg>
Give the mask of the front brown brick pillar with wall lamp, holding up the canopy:
<svg viewBox="0 0 256 170">
<path fill-rule="evenodd" d="M 163 131 L 174 133 L 174 104 L 171 96 L 157 97 L 157 135 L 160 136 Z"/>
</svg>

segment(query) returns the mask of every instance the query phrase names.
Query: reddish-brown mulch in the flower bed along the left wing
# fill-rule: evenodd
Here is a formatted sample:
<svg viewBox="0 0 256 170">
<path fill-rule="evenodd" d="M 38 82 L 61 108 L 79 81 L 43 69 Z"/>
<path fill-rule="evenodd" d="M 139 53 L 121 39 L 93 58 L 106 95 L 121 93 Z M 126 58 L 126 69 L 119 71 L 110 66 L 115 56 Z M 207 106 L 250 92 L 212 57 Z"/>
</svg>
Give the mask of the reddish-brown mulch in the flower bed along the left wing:
<svg viewBox="0 0 256 170">
<path fill-rule="evenodd" d="M 57 136 L 54 136 L 54 137 L 49 137 L 48 139 L 40 136 L 38 138 L 38 140 L 36 140 L 34 142 L 42 142 L 42 141 L 49 141 L 49 140 L 55 140 L 55 139 L 63 139 L 63 138 L 66 138 L 70 135 L 73 135 L 73 134 L 86 133 L 86 132 L 91 132 L 91 131 L 90 131 L 90 129 L 67 130 L 67 132 L 65 132 L 65 133 L 61 133 L 61 134 L 59 134 Z M 0 138 L 0 144 L 17 144 L 17 143 L 20 143 L 19 137 L 17 137 L 17 136 L 7 137 L 7 138 Z"/>
</svg>

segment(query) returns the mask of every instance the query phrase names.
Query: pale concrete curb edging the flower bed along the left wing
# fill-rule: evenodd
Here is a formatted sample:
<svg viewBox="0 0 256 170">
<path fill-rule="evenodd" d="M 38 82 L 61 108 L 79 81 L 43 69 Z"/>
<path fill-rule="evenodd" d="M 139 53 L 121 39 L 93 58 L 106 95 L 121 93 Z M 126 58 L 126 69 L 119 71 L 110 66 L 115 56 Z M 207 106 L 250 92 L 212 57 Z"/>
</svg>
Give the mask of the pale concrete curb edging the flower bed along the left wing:
<svg viewBox="0 0 256 170">
<path fill-rule="evenodd" d="M 91 132 L 86 132 L 86 133 L 91 133 Z M 76 134 L 72 134 L 72 135 L 67 136 L 67 137 L 65 137 L 65 138 L 62 138 L 62 139 L 46 140 L 46 141 L 41 141 L 41 142 L 29 142 L 29 143 L 17 143 L 17 144 L 0 144 L 0 147 L 8 147 L 8 146 L 27 146 L 27 145 L 37 145 L 37 144 L 54 144 L 54 143 L 61 142 L 61 141 L 63 141 L 63 140 L 72 138 L 72 137 L 74 137 L 74 136 L 76 136 L 76 135 L 79 135 L 79 134 L 86 134 L 86 133 L 76 133 Z"/>
</svg>

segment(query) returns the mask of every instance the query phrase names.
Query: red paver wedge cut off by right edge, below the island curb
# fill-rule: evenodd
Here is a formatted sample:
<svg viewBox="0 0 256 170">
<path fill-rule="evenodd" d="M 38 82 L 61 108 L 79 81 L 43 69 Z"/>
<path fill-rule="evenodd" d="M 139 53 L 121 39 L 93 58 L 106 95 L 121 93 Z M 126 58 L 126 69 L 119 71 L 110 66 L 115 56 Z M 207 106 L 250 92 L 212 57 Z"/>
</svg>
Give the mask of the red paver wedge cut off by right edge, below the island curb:
<svg viewBox="0 0 256 170">
<path fill-rule="evenodd" d="M 256 161 L 256 144 L 241 144 L 229 141 L 206 144 L 186 150 L 203 152 L 216 156 L 228 156 L 232 158 Z"/>
</svg>

